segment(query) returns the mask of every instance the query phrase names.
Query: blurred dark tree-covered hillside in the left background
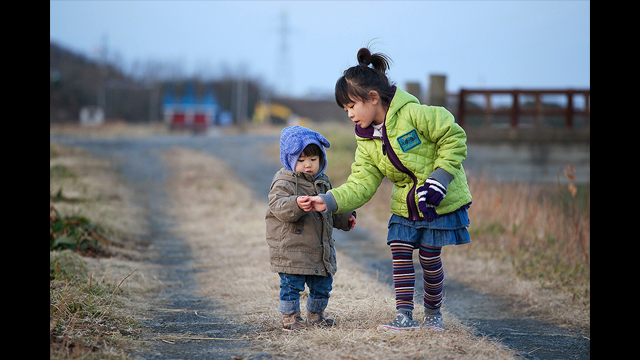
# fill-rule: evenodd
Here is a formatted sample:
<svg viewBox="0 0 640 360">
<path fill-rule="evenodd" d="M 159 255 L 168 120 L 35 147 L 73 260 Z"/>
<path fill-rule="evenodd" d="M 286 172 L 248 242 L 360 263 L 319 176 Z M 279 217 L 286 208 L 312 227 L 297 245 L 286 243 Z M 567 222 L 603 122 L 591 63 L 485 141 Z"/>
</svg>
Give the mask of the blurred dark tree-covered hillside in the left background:
<svg viewBox="0 0 640 360">
<path fill-rule="evenodd" d="M 187 78 L 170 63 L 136 63 L 132 74 L 117 65 L 92 60 L 50 42 L 49 117 L 50 122 L 78 121 L 84 106 L 104 107 L 105 117 L 128 122 L 161 121 L 162 98 L 169 87 L 180 96 L 187 83 L 196 94 L 213 86 L 222 107 L 238 118 L 250 119 L 261 91 L 252 79 L 229 75 L 216 80 Z M 240 98 L 238 96 L 241 96 Z"/>
</svg>

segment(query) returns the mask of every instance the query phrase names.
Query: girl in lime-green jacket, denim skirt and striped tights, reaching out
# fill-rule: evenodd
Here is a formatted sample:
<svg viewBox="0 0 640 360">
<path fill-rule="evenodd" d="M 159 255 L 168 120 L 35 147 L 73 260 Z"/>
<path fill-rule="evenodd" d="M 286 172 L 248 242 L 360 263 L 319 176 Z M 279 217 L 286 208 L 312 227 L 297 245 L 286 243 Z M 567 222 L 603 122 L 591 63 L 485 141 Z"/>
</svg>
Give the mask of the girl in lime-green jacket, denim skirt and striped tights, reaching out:
<svg viewBox="0 0 640 360">
<path fill-rule="evenodd" d="M 393 189 L 387 244 L 398 313 L 378 327 L 444 330 L 441 248 L 471 242 L 471 194 L 462 167 L 467 137 L 445 108 L 420 105 L 389 82 L 386 55 L 362 48 L 357 58 L 358 65 L 345 70 L 335 90 L 338 106 L 356 124 L 351 175 L 340 187 L 310 197 L 312 208 L 334 213 L 357 209 L 373 197 L 385 176 L 389 178 Z M 413 320 L 414 249 L 423 270 L 422 324 Z"/>
</svg>

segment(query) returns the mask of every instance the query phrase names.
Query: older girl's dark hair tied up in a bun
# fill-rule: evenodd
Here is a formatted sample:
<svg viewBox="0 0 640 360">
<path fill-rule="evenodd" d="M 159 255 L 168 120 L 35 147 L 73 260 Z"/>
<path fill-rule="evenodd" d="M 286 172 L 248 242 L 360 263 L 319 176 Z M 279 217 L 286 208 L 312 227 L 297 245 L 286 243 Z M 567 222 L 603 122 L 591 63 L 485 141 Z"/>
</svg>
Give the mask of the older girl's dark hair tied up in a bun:
<svg viewBox="0 0 640 360">
<path fill-rule="evenodd" d="M 391 59 L 382 53 L 371 54 L 363 47 L 358 50 L 358 65 L 344 71 L 336 82 L 336 103 L 341 109 L 356 100 L 369 100 L 369 92 L 375 90 L 382 104 L 389 106 L 393 97 L 393 84 L 387 79 Z M 371 65 L 371 67 L 369 67 Z"/>
</svg>

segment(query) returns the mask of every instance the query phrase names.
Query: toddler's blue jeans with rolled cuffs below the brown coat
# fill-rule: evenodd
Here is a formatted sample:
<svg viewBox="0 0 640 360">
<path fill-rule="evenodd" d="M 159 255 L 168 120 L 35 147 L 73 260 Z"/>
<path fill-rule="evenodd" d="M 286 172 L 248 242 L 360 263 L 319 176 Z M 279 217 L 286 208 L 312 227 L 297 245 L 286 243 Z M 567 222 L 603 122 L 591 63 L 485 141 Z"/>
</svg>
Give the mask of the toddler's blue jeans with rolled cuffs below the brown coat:
<svg viewBox="0 0 640 360">
<path fill-rule="evenodd" d="M 317 275 L 280 275 L 280 312 L 291 315 L 300 311 L 300 292 L 304 291 L 304 284 L 309 287 L 307 310 L 322 312 L 329 303 L 329 293 L 333 284 L 333 277 Z"/>
</svg>

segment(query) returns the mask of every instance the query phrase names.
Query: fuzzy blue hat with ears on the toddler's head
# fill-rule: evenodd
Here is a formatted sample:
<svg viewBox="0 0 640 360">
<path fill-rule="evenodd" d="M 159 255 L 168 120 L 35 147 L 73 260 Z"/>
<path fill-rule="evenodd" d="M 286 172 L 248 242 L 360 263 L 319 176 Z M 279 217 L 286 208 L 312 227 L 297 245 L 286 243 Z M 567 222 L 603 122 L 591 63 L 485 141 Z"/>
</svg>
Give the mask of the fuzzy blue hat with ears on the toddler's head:
<svg viewBox="0 0 640 360">
<path fill-rule="evenodd" d="M 285 169 L 296 171 L 296 162 L 309 144 L 316 144 L 322 150 L 323 163 L 318 168 L 318 173 L 314 176 L 317 178 L 324 172 L 327 167 L 327 153 L 324 148 L 331 147 L 331 144 L 324 136 L 317 132 L 302 126 L 289 126 L 282 129 L 280 134 L 280 162 Z"/>
</svg>

